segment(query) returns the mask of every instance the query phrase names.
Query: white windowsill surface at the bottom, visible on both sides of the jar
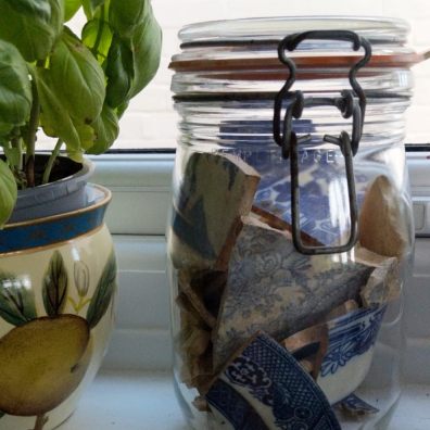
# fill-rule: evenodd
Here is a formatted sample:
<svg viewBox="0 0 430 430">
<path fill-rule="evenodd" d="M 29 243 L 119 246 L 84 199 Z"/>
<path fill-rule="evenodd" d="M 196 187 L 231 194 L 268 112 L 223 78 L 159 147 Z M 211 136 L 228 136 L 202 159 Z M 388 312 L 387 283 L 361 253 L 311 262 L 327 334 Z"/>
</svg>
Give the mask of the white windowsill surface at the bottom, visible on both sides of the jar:
<svg viewBox="0 0 430 430">
<path fill-rule="evenodd" d="M 407 385 L 390 430 L 430 428 L 430 387 Z M 102 372 L 62 430 L 187 430 L 169 374 Z"/>
</svg>

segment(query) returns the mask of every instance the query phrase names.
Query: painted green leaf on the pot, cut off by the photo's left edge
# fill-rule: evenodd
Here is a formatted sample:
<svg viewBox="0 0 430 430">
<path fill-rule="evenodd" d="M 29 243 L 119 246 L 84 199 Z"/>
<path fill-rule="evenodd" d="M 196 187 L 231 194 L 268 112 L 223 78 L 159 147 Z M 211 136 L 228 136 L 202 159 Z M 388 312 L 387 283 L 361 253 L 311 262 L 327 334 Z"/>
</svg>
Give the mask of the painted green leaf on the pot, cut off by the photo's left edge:
<svg viewBox="0 0 430 430">
<path fill-rule="evenodd" d="M 37 318 L 31 286 L 5 271 L 0 271 L 0 317 L 14 326 Z"/>
</svg>

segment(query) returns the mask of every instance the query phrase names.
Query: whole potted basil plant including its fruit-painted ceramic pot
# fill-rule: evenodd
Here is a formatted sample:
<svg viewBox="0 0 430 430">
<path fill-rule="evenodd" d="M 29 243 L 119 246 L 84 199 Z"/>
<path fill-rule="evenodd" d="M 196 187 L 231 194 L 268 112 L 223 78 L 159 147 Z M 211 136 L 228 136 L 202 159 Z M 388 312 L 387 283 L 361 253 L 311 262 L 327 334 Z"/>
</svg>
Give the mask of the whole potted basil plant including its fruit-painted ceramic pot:
<svg viewBox="0 0 430 430">
<path fill-rule="evenodd" d="M 80 36 L 64 25 L 79 10 Z M 87 184 L 84 154 L 115 141 L 161 41 L 150 0 L 0 0 L 2 430 L 56 427 L 100 366 L 116 263 L 111 193 Z M 49 155 L 39 129 L 58 139 Z"/>
</svg>

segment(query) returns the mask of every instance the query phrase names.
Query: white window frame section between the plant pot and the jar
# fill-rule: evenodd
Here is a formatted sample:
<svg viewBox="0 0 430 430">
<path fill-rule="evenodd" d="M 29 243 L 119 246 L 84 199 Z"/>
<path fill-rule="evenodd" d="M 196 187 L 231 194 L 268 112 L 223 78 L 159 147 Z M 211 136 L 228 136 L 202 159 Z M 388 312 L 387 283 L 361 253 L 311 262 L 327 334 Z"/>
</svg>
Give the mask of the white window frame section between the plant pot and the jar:
<svg viewBox="0 0 430 430">
<path fill-rule="evenodd" d="M 112 191 L 106 224 L 113 235 L 164 236 L 172 195 L 174 151 L 91 156 L 91 181 Z"/>
</svg>

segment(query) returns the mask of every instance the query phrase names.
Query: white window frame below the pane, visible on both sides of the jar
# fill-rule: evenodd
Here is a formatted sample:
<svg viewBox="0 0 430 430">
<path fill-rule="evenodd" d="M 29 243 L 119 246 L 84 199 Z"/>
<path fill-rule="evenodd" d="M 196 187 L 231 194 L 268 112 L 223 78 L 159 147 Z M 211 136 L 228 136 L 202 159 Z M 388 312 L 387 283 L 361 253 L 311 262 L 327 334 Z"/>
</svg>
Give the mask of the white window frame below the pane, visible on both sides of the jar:
<svg viewBox="0 0 430 430">
<path fill-rule="evenodd" d="M 113 194 L 106 214 L 106 224 L 113 235 L 165 235 L 175 152 L 117 151 L 90 156 L 96 164 L 91 181 L 108 187 Z M 429 236 L 430 148 L 408 146 L 406 163 L 417 236 Z"/>
</svg>

